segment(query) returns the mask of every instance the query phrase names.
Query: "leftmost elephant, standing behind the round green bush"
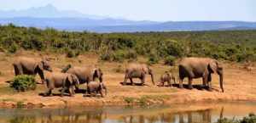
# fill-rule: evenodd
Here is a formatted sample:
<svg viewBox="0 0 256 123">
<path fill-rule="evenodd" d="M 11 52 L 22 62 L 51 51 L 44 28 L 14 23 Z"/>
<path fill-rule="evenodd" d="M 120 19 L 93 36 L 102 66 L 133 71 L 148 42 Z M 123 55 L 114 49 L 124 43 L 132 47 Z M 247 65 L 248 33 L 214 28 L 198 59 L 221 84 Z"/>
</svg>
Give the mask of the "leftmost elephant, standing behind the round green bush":
<svg viewBox="0 0 256 123">
<path fill-rule="evenodd" d="M 13 63 L 15 75 L 40 75 L 42 84 L 44 84 L 44 70 L 52 71 L 49 62 L 46 59 L 40 61 L 19 57 Z"/>
</svg>

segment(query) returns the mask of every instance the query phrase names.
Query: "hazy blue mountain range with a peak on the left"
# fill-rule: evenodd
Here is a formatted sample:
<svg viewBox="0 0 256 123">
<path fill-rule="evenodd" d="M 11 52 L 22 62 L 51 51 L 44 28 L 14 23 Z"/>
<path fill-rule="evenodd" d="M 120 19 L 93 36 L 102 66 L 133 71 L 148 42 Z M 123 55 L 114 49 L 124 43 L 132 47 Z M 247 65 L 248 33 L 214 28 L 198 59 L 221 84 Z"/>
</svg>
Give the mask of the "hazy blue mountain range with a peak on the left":
<svg viewBox="0 0 256 123">
<path fill-rule="evenodd" d="M 219 31 L 256 30 L 256 22 L 244 21 L 167 21 L 125 20 L 58 10 L 53 5 L 24 10 L 0 10 L 0 24 L 9 23 L 38 28 L 52 27 L 66 31 L 135 32 L 135 31 Z"/>
</svg>

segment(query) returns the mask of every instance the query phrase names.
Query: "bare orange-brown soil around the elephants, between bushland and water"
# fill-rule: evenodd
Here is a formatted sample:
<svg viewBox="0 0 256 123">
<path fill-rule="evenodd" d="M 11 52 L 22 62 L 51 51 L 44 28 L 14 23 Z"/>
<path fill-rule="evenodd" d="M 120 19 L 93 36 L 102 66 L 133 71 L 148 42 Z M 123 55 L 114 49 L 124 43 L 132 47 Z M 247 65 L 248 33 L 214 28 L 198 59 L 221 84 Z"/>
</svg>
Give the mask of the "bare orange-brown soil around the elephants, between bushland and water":
<svg viewBox="0 0 256 123">
<path fill-rule="evenodd" d="M 45 91 L 45 85 L 38 85 L 37 90 L 29 92 L 14 92 L 9 88 L 6 81 L 12 80 L 14 70 L 12 63 L 17 56 L 28 56 L 40 58 L 42 56 L 52 58 L 50 63 L 55 71 L 60 71 L 67 64 L 83 66 L 85 64 L 99 65 L 104 72 L 104 82 L 108 87 L 108 96 L 106 98 L 83 97 L 83 93 L 77 93 L 75 97 L 65 96 L 61 98 L 59 91 L 54 91 L 55 96 L 43 97 L 40 92 Z M 213 101 L 256 101 L 256 71 L 247 71 L 241 69 L 241 64 L 224 63 L 224 92 L 220 92 L 218 85 L 218 75 L 212 76 L 213 91 L 200 89 L 201 79 L 195 79 L 193 84 L 195 89 L 178 89 L 177 87 L 156 87 L 150 82 L 148 75 L 146 84 L 148 86 L 122 86 L 120 81 L 124 79 L 125 64 L 97 62 L 95 54 L 88 53 L 80 55 L 78 58 L 67 59 L 65 55 L 49 53 L 20 52 L 15 55 L 0 54 L 0 107 L 14 108 L 20 103 L 27 107 L 70 107 L 70 106 L 102 106 L 102 105 L 148 105 L 148 104 L 174 104 L 174 103 L 194 103 L 194 102 L 213 102 Z M 139 62 L 145 59 L 138 59 Z M 119 67 L 119 65 L 121 67 Z M 154 64 L 152 66 L 155 73 L 155 81 L 166 70 L 177 68 L 163 64 Z M 177 73 L 175 73 L 177 76 Z M 38 79 L 38 76 L 37 76 Z M 39 79 L 38 79 L 39 81 Z M 136 80 L 139 81 L 139 80 Z M 187 84 L 187 80 L 184 84 Z M 197 85 L 197 86 L 196 86 Z M 80 88 L 84 88 L 83 85 Z"/>
</svg>

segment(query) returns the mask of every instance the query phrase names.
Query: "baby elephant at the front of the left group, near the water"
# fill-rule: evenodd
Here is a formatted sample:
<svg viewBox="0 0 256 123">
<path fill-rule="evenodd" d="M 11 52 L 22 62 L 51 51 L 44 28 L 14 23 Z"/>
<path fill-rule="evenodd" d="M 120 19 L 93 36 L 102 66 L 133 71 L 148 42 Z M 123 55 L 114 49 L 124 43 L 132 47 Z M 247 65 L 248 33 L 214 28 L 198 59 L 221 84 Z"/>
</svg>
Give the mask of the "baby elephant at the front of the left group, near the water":
<svg viewBox="0 0 256 123">
<path fill-rule="evenodd" d="M 102 98 L 104 97 L 103 95 L 103 89 L 105 90 L 105 95 L 107 96 L 107 87 L 103 84 L 103 82 L 99 81 L 90 81 L 87 84 L 87 93 L 91 96 L 91 93 L 98 94 L 100 93 Z"/>
</svg>

